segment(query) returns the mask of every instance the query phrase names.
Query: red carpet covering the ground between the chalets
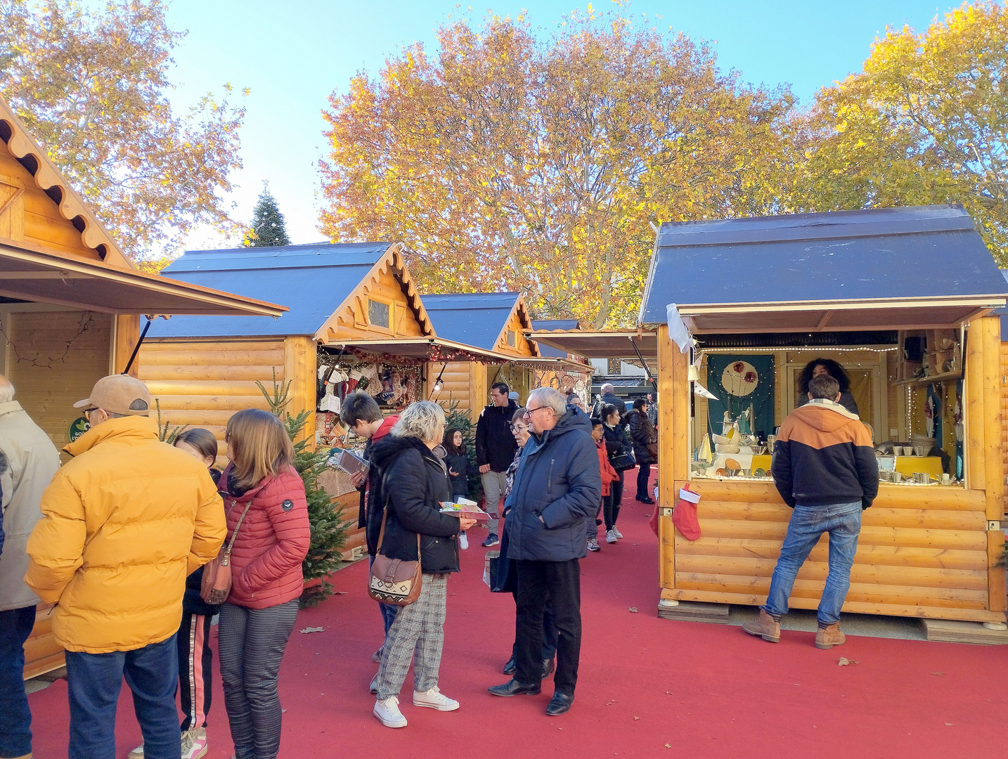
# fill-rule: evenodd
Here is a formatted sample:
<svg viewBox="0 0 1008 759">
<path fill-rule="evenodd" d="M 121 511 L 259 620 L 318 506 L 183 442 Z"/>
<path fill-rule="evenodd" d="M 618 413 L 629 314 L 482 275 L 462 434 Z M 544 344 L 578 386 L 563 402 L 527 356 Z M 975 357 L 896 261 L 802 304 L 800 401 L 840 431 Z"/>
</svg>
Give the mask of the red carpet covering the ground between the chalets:
<svg viewBox="0 0 1008 759">
<path fill-rule="evenodd" d="M 820 651 L 811 633 L 785 631 L 773 645 L 738 627 L 658 619 L 657 541 L 645 516 L 652 507 L 630 501 L 631 493 L 620 518 L 626 537 L 582 562 L 584 643 L 571 713 L 543 714 L 551 681 L 538 697 L 487 693 L 488 685 L 507 679 L 500 667 L 510 654 L 514 605 L 509 595 L 491 595 L 483 585 L 485 549 L 478 542 L 485 531 L 474 531 L 463 573 L 449 589 L 440 678 L 462 709 L 414 708 L 410 674 L 402 699 L 409 726 L 390 730 L 371 716 L 367 686 L 381 622 L 364 592 L 367 563 L 359 562 L 336 576 L 346 595 L 298 618 L 280 675 L 286 710 L 280 756 L 948 759 L 1000 753 L 1006 647 L 849 638 Z M 325 631 L 296 632 L 306 627 Z M 838 666 L 842 655 L 860 663 Z M 29 701 L 35 756 L 66 757 L 66 682 Z M 209 759 L 228 759 L 219 681 L 208 733 Z M 140 742 L 125 685 L 117 735 L 120 757 Z"/>
</svg>

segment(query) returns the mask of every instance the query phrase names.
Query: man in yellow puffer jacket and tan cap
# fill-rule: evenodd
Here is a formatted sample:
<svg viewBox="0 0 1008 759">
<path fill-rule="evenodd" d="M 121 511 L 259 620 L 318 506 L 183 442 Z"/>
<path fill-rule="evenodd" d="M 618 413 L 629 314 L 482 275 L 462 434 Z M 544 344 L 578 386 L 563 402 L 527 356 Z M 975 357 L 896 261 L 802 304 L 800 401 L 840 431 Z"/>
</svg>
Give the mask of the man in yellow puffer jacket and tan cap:
<svg viewBox="0 0 1008 759">
<path fill-rule="evenodd" d="M 123 675 L 147 759 L 181 752 L 174 635 L 185 577 L 217 555 L 224 505 L 207 468 L 158 440 L 146 386 L 98 381 L 83 407 L 91 429 L 65 451 L 28 539 L 25 582 L 54 602 L 67 649 L 70 759 L 113 759 Z"/>
</svg>

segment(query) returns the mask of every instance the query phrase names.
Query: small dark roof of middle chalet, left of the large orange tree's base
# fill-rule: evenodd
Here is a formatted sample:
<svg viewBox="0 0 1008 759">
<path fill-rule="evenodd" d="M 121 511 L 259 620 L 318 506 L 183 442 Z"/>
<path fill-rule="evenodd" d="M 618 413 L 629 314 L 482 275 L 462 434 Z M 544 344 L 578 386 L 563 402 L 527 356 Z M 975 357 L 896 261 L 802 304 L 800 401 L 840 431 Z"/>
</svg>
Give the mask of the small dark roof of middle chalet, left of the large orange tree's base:
<svg viewBox="0 0 1008 759">
<path fill-rule="evenodd" d="M 420 295 L 438 338 L 492 351 L 520 293 Z"/>
</svg>

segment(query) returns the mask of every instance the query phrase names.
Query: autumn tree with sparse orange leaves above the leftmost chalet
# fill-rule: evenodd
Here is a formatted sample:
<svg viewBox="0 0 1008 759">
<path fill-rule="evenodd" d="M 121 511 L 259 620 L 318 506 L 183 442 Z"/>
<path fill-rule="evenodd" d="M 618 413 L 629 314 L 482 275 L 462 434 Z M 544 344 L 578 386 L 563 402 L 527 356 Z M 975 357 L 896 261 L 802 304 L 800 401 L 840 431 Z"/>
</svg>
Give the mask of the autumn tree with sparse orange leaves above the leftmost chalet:
<svg viewBox="0 0 1008 759">
<path fill-rule="evenodd" d="M 197 225 L 236 229 L 223 196 L 241 167 L 243 106 L 167 96 L 171 51 L 160 0 L 0 0 L 0 95 L 124 251 L 146 257 Z"/>
</svg>

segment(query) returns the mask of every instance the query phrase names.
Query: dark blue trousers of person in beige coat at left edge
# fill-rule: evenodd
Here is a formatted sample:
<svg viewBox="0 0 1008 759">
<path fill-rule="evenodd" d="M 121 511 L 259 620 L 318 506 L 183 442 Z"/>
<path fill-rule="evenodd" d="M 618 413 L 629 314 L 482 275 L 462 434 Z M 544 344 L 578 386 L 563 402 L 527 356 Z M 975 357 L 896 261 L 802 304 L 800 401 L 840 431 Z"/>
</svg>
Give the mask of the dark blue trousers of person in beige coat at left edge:
<svg viewBox="0 0 1008 759">
<path fill-rule="evenodd" d="M 31 753 L 31 712 L 24 694 L 24 641 L 35 607 L 0 612 L 0 756 Z"/>
</svg>

